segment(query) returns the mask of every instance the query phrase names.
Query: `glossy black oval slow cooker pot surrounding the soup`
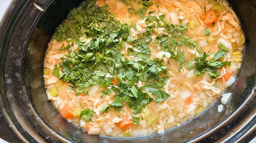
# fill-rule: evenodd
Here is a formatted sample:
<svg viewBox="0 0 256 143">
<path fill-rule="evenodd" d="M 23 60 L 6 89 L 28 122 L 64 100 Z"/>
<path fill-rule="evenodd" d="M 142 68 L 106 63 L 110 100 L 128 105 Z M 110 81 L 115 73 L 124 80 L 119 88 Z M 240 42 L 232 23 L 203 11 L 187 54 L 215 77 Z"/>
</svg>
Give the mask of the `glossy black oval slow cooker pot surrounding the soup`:
<svg viewBox="0 0 256 143">
<path fill-rule="evenodd" d="M 255 0 L 230 0 L 246 36 L 245 58 L 231 101 L 220 99 L 194 119 L 161 135 L 88 135 L 47 100 L 43 58 L 54 30 L 82 0 L 15 0 L 0 24 L 0 137 L 9 142 L 248 142 L 256 136 Z"/>
</svg>

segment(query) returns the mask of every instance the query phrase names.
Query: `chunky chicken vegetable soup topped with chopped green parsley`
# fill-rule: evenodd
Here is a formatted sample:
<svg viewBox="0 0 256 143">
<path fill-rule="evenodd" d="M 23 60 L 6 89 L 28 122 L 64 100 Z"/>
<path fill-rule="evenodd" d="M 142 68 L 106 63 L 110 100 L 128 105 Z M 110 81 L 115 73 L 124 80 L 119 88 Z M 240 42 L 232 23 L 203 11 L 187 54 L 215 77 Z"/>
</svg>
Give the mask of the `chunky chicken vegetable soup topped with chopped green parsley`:
<svg viewBox="0 0 256 143">
<path fill-rule="evenodd" d="M 244 42 L 223 0 L 87 0 L 49 43 L 47 96 L 89 134 L 161 134 L 199 115 L 235 81 Z"/>
</svg>

